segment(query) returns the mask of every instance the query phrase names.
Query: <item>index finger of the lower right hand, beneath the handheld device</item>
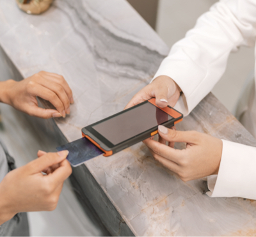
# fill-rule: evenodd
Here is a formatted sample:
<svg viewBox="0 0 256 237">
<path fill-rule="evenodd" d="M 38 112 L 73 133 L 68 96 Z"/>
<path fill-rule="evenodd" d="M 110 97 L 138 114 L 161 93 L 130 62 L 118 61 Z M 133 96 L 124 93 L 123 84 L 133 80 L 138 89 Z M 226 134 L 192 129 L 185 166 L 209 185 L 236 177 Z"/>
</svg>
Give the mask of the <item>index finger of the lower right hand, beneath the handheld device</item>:
<svg viewBox="0 0 256 237">
<path fill-rule="evenodd" d="M 166 158 L 167 160 L 171 160 L 178 165 L 180 165 L 180 160 L 184 157 L 182 150 L 171 148 L 170 146 L 166 146 L 166 144 L 162 144 L 152 139 L 147 139 L 144 143 L 157 155 Z"/>
</svg>

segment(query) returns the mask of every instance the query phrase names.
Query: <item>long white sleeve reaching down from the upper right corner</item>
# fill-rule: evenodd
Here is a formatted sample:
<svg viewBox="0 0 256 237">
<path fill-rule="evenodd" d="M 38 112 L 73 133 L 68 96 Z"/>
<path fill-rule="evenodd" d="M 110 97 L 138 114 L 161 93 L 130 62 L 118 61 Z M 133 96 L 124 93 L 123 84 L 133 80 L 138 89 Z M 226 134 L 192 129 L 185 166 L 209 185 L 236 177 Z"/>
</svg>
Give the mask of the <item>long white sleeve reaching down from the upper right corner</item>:
<svg viewBox="0 0 256 237">
<path fill-rule="evenodd" d="M 256 1 L 221 0 L 173 45 L 153 80 L 159 75 L 175 80 L 183 91 L 175 108 L 186 116 L 223 75 L 230 52 L 254 46 L 255 38 Z"/>
</svg>

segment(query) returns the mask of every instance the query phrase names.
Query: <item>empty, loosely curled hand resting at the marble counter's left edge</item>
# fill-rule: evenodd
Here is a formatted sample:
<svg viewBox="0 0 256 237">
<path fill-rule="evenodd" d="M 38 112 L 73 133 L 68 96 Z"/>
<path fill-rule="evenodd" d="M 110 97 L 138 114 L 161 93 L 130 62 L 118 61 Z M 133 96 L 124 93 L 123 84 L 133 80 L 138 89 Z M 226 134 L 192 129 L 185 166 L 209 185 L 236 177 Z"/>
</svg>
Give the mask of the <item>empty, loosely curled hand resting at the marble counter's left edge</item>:
<svg viewBox="0 0 256 237">
<path fill-rule="evenodd" d="M 7 80 L 1 85 L 2 102 L 39 118 L 65 118 L 66 114 L 70 114 L 70 103 L 74 103 L 66 80 L 56 73 L 38 72 L 19 82 Z M 38 107 L 36 96 L 51 102 L 56 110 Z"/>
</svg>

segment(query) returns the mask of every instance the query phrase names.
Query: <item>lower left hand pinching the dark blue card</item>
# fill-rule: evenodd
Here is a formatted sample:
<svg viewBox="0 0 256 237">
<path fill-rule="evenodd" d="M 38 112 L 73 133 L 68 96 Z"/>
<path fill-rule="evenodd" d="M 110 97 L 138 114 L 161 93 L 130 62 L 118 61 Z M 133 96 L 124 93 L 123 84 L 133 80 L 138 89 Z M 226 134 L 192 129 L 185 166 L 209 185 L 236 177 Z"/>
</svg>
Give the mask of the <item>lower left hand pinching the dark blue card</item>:
<svg viewBox="0 0 256 237">
<path fill-rule="evenodd" d="M 67 155 L 39 151 L 40 158 L 6 174 L 0 183 L 0 225 L 19 212 L 56 208 L 63 182 L 72 172 Z"/>
</svg>

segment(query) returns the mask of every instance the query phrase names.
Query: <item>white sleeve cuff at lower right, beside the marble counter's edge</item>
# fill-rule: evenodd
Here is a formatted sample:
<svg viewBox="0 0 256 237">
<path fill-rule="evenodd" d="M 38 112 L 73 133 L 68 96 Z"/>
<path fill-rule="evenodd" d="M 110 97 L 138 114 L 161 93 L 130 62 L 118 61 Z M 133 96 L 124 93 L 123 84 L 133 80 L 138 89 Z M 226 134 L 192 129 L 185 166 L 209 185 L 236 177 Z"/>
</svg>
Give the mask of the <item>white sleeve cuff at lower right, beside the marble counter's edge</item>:
<svg viewBox="0 0 256 237">
<path fill-rule="evenodd" d="M 210 197 L 256 199 L 256 148 L 223 141 L 220 169 L 207 177 Z"/>
</svg>

